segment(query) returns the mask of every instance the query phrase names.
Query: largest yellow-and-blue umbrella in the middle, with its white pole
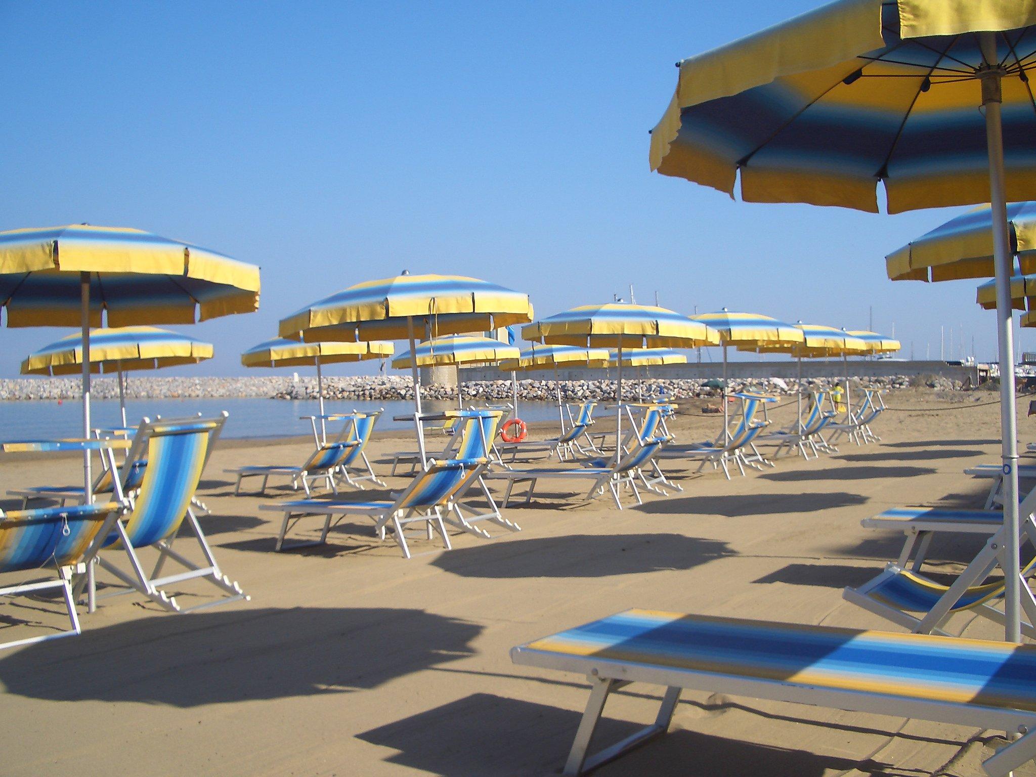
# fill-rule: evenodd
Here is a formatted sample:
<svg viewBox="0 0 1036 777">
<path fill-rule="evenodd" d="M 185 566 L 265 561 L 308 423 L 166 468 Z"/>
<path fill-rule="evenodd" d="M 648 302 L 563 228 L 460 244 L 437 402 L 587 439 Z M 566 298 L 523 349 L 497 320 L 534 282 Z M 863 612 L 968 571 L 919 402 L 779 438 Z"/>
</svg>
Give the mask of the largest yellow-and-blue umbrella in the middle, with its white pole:
<svg viewBox="0 0 1036 777">
<path fill-rule="evenodd" d="M 407 340 L 412 352 L 423 340 L 463 335 L 533 320 L 528 294 L 464 276 L 402 275 L 350 286 L 281 319 L 281 337 L 321 341 Z M 413 379 L 418 447 L 425 458 L 421 381 Z"/>
</svg>

